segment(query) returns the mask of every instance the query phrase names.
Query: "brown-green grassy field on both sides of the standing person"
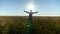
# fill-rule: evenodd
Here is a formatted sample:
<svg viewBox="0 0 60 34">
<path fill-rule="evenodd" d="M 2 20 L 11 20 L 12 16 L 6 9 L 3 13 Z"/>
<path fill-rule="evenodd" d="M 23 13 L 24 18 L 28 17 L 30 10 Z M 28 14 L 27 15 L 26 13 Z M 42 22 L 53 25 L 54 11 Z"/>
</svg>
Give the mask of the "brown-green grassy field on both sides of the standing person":
<svg viewBox="0 0 60 34">
<path fill-rule="evenodd" d="M 28 16 L 0 16 L 0 34 L 24 34 Z M 34 16 L 33 34 L 60 34 L 60 17 Z"/>
</svg>

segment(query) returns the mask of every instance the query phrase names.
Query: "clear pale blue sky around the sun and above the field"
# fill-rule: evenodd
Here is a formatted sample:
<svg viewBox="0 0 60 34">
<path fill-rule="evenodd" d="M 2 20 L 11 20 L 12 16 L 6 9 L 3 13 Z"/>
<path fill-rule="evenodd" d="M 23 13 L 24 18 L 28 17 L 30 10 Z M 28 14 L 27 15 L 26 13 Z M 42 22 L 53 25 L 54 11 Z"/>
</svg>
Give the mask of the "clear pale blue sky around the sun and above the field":
<svg viewBox="0 0 60 34">
<path fill-rule="evenodd" d="M 30 3 L 38 11 L 33 16 L 60 16 L 60 0 L 0 0 L 0 16 L 28 16 L 24 10 Z"/>
</svg>

